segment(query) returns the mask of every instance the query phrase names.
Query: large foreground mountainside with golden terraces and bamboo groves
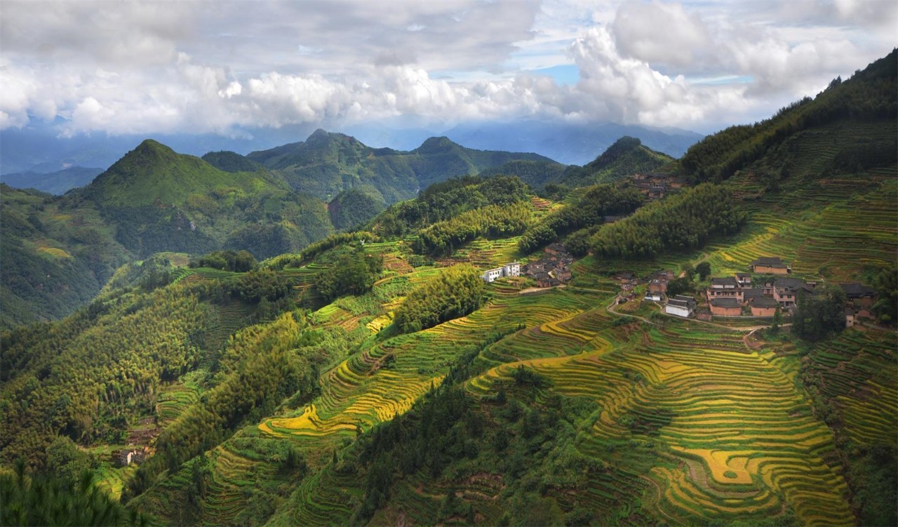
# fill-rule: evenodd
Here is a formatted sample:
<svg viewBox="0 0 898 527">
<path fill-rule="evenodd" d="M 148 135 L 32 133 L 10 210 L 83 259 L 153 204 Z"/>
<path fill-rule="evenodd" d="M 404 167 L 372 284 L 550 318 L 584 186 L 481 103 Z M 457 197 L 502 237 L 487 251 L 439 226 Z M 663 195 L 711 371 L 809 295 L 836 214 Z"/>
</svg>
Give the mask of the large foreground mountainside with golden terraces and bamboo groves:
<svg viewBox="0 0 898 527">
<path fill-rule="evenodd" d="M 886 70 L 818 99 L 894 87 Z M 888 112 L 893 92 L 865 104 Z M 163 524 L 894 525 L 898 162 L 864 161 L 895 134 L 874 117 L 806 123 L 722 183 L 650 204 L 626 182 L 565 205 L 467 176 L 257 268 L 225 255 L 243 272 L 202 267 L 223 255 L 129 264 L 66 319 L 0 335 L 0 491 L 22 494 L 22 458 L 32 481 L 92 470 L 98 492 Z M 207 178 L 271 177 L 149 149 L 211 192 Z M 720 164 L 693 159 L 706 175 Z M 777 163 L 789 168 L 771 180 Z M 128 192 L 119 176 L 104 191 Z M 38 220 L 74 219 L 61 200 L 13 196 L 2 211 L 23 241 L 61 236 Z M 187 199 L 153 204 L 192 214 Z M 565 287 L 480 279 L 551 258 L 522 243 L 541 227 L 593 244 Z M 708 309 L 698 264 L 733 277 L 762 256 L 814 282 L 813 298 L 713 321 L 643 300 L 666 269 Z M 878 299 L 842 328 L 833 285 L 855 280 Z M 835 315 L 826 334 L 785 325 L 813 323 L 817 305 Z M 139 466 L 119 466 L 134 451 Z"/>
</svg>

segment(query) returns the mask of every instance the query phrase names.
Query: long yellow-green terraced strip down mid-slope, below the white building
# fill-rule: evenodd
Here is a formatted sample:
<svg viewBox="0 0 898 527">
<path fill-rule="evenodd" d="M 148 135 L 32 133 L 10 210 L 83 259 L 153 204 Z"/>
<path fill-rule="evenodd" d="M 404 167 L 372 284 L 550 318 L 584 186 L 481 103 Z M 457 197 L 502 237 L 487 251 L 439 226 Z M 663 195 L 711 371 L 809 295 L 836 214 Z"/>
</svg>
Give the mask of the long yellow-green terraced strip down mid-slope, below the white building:
<svg viewBox="0 0 898 527">
<path fill-rule="evenodd" d="M 299 439 L 304 448 L 320 449 L 322 436 L 355 435 L 407 411 L 431 386 L 443 380 L 464 347 L 477 345 L 490 331 L 535 327 L 563 320 L 586 307 L 585 297 L 562 291 L 536 299 L 497 294 L 479 312 L 435 328 L 390 338 L 350 356 L 321 378 L 321 397 L 295 416 L 260 424 L 266 434 Z M 564 331 L 558 323 L 547 331 Z M 522 335 L 521 342 L 531 340 Z M 533 347 L 531 349 L 538 349 Z M 503 351 L 500 353 L 513 353 Z M 523 348 L 518 353 L 527 353 Z M 498 361 L 497 361 L 498 362 Z M 331 438 L 327 443 L 331 443 Z"/>
</svg>

